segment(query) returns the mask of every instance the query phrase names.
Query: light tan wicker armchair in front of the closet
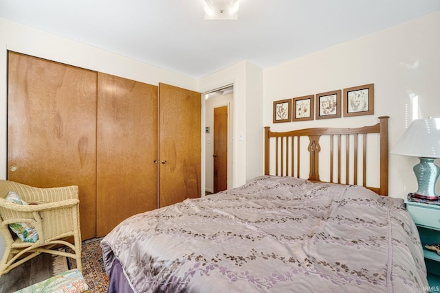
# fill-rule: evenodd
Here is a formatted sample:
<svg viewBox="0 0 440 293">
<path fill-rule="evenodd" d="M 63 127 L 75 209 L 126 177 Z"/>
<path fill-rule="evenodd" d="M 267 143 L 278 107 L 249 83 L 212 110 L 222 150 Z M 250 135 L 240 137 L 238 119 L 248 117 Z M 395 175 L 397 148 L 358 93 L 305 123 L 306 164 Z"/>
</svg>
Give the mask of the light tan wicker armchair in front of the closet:
<svg viewBox="0 0 440 293">
<path fill-rule="evenodd" d="M 19 194 L 28 205 L 5 200 L 9 191 Z M 23 222 L 36 229 L 36 242 L 23 242 L 8 226 Z M 0 233 L 5 239 L 0 277 L 41 253 L 76 259 L 82 271 L 78 187 L 37 188 L 0 180 Z M 72 237 L 73 244 L 66 241 Z M 59 246 L 69 246 L 74 253 L 57 250 Z"/>
</svg>

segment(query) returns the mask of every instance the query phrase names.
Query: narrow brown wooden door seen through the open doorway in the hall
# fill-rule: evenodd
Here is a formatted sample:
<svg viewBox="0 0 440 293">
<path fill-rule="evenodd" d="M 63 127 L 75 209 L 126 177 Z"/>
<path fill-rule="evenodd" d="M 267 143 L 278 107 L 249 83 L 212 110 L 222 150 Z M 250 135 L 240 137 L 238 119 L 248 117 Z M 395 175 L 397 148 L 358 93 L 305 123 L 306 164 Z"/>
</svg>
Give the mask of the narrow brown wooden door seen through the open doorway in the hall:
<svg viewBox="0 0 440 293">
<path fill-rule="evenodd" d="M 214 108 L 214 194 L 228 189 L 228 106 Z"/>
</svg>

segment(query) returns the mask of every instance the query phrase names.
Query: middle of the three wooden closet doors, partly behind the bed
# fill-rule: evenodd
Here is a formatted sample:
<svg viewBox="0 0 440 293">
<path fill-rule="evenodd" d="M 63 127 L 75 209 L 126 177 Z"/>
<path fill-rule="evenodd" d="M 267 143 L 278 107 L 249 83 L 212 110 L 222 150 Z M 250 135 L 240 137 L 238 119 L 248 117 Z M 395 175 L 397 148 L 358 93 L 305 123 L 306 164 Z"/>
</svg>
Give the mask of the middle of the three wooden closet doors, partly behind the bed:
<svg viewBox="0 0 440 293">
<path fill-rule="evenodd" d="M 157 208 L 157 86 L 98 73 L 97 237 Z"/>
</svg>

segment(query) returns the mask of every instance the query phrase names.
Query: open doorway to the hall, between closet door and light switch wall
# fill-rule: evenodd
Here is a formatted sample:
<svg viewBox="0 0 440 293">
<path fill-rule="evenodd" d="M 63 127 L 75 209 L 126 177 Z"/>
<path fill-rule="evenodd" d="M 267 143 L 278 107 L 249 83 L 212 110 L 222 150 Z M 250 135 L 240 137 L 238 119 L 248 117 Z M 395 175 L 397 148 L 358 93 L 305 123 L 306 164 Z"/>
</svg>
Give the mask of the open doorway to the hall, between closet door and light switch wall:
<svg viewBox="0 0 440 293">
<path fill-rule="evenodd" d="M 205 99 L 205 194 L 232 188 L 233 87 L 203 95 Z"/>
</svg>

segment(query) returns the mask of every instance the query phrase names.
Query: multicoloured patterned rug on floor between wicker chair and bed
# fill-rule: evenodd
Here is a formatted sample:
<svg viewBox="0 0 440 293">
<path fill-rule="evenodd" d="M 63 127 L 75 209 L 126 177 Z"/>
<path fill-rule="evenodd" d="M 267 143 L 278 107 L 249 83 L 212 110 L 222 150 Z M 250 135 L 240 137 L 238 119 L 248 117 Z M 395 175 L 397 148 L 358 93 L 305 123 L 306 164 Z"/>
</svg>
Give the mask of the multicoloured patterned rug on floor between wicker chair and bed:
<svg viewBox="0 0 440 293">
<path fill-rule="evenodd" d="M 83 277 L 89 285 L 90 293 L 107 292 L 109 288 L 109 276 L 104 269 L 102 260 L 102 249 L 100 246 L 102 238 L 90 239 L 83 242 L 81 262 L 83 263 Z M 66 252 L 72 253 L 70 248 Z M 76 260 L 67 258 L 69 269 L 76 268 Z"/>
</svg>

